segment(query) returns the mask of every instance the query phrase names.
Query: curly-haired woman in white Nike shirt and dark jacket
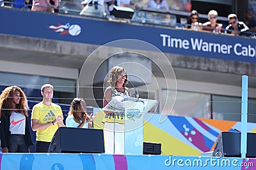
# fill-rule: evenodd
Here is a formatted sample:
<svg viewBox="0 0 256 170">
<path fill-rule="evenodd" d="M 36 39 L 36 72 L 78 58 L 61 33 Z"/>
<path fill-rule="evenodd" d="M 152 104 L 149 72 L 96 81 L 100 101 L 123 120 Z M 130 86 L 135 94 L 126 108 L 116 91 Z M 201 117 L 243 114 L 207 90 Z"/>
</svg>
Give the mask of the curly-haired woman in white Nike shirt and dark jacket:
<svg viewBox="0 0 256 170">
<path fill-rule="evenodd" d="M 3 153 L 26 153 L 33 145 L 28 125 L 27 98 L 17 86 L 0 96 L 0 139 Z"/>
</svg>

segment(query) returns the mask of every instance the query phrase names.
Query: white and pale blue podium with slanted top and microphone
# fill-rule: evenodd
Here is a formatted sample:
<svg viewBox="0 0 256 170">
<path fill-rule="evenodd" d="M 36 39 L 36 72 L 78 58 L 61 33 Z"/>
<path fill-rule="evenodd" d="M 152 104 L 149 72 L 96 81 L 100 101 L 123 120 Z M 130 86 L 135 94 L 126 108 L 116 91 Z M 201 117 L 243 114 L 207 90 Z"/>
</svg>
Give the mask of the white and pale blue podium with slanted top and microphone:
<svg viewBox="0 0 256 170">
<path fill-rule="evenodd" d="M 122 96 L 112 97 L 111 101 L 103 110 L 115 114 L 124 113 L 125 115 L 124 128 L 120 131 L 119 127 L 117 128 L 115 125 L 113 127 L 113 147 L 115 154 L 143 154 L 143 114 L 147 113 L 156 104 L 157 101 L 150 99 Z M 118 138 L 118 141 L 116 138 Z M 108 136 L 105 136 L 106 140 L 108 140 Z M 120 145 L 123 146 L 120 147 Z"/>
</svg>

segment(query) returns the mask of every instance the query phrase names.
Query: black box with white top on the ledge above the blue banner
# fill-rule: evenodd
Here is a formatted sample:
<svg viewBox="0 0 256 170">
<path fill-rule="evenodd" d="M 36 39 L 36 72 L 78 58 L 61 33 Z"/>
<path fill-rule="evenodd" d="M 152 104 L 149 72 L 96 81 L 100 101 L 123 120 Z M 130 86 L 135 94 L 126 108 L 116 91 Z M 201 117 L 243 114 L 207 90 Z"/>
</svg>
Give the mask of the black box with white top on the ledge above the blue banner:
<svg viewBox="0 0 256 170">
<path fill-rule="evenodd" d="M 111 11 L 111 15 L 114 15 L 116 18 L 128 18 L 131 19 L 134 10 L 132 8 L 123 7 L 123 6 L 114 6 L 113 11 Z"/>
</svg>

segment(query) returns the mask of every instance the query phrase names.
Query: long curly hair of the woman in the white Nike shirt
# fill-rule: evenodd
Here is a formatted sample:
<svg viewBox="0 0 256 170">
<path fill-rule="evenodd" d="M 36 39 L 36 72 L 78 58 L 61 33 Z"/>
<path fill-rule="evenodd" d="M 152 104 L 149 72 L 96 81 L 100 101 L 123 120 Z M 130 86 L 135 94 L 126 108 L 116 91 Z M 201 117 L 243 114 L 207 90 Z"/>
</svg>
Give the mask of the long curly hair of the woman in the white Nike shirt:
<svg viewBox="0 0 256 170">
<path fill-rule="evenodd" d="M 15 90 L 20 92 L 20 102 L 19 104 L 16 104 L 16 108 L 12 108 L 12 98 Z M 6 89 L 3 90 L 0 96 L 0 117 L 2 115 L 6 116 L 4 114 L 4 110 L 8 113 L 7 115 L 11 115 L 13 109 L 18 110 L 20 113 L 28 117 L 27 97 L 23 90 L 17 86 L 6 87 Z"/>
</svg>

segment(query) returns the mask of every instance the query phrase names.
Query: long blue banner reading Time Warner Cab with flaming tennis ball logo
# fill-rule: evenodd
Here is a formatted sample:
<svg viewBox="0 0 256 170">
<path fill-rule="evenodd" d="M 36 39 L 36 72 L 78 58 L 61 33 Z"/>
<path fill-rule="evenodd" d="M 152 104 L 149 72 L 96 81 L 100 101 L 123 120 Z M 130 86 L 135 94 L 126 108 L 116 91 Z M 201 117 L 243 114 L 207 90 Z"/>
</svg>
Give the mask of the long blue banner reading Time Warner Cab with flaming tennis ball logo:
<svg viewBox="0 0 256 170">
<path fill-rule="evenodd" d="M 256 41 L 240 36 L 110 22 L 70 15 L 0 8 L 0 34 L 104 45 L 118 39 L 147 41 L 165 53 L 256 62 Z M 143 46 L 119 45 L 141 50 Z"/>
</svg>

